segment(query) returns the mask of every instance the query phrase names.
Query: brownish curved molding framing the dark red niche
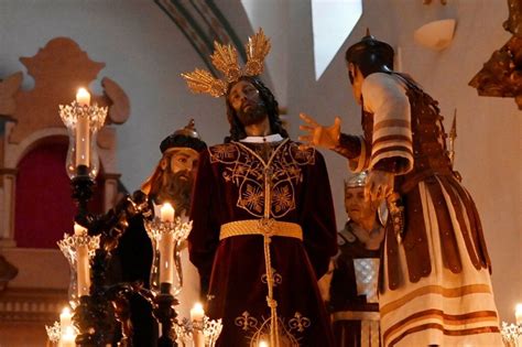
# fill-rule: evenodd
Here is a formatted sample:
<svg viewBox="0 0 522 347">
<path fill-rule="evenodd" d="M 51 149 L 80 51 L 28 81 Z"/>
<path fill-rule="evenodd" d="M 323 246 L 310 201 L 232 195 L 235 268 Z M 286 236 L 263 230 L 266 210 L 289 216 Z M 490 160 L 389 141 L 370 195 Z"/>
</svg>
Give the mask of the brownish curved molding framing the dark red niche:
<svg viewBox="0 0 522 347">
<path fill-rule="evenodd" d="M 94 62 L 68 37 L 48 41 L 32 57 L 21 57 L 34 79 L 31 90 L 20 86 L 23 73 L 0 80 L 0 246 L 14 245 L 14 192 L 17 169 L 32 149 L 51 138 L 67 139 L 67 130 L 58 116 L 58 105 L 70 104 L 78 87 L 87 87 L 98 77 L 105 63 Z M 91 101 L 109 107 L 106 122 L 121 124 L 130 115 L 130 101 L 112 79 L 101 79 L 102 95 L 91 94 Z M 119 176 L 116 165 L 117 134 L 115 127 L 104 127 L 98 134 L 99 158 L 105 181 L 104 208 L 108 210 L 118 196 Z M 64 163 L 65 170 L 65 163 Z"/>
</svg>

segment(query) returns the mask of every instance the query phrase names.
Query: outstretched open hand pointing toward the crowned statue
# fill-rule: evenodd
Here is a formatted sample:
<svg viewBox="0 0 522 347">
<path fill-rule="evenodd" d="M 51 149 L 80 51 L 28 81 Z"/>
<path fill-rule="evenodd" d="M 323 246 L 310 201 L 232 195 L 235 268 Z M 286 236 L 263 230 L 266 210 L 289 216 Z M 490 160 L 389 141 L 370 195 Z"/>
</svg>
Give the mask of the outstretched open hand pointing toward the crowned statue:
<svg viewBox="0 0 522 347">
<path fill-rule="evenodd" d="M 331 127 L 323 127 L 317 123 L 312 117 L 305 113 L 300 113 L 300 117 L 306 123 L 300 126 L 300 129 L 305 131 L 305 134 L 298 138 L 300 141 L 303 141 L 304 145 L 334 149 L 339 144 L 339 117 L 335 118 L 334 124 Z"/>
</svg>

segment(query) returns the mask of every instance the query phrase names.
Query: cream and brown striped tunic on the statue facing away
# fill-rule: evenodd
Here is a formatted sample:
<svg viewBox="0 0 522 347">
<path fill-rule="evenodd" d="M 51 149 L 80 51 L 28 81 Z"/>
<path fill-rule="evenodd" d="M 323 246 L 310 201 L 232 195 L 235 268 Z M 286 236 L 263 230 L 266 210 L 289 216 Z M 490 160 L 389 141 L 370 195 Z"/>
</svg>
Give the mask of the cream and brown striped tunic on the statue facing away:
<svg viewBox="0 0 522 347">
<path fill-rule="evenodd" d="M 365 135 L 349 166 L 395 173 L 406 225 L 387 226 L 379 299 L 384 346 L 502 346 L 480 219 L 453 172 L 437 101 L 410 77 L 362 84 Z"/>
</svg>

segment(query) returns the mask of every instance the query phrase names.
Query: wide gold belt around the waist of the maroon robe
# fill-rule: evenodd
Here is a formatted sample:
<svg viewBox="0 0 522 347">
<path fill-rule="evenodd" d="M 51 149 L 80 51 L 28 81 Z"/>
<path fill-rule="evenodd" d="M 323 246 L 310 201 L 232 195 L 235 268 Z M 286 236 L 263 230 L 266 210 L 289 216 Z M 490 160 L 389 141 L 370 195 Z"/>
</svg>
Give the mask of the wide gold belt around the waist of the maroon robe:
<svg viewBox="0 0 522 347">
<path fill-rule="evenodd" d="M 303 230 L 300 225 L 274 219 L 247 219 L 224 224 L 219 240 L 241 235 L 281 236 L 303 240 Z"/>
</svg>

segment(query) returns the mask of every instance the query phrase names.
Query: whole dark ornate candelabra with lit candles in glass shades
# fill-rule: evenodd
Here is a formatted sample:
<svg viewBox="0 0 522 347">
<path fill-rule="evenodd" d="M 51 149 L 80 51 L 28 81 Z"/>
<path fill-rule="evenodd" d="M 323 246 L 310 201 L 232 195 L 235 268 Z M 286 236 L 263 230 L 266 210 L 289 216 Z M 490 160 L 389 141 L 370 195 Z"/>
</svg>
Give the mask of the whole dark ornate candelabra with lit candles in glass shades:
<svg viewBox="0 0 522 347">
<path fill-rule="evenodd" d="M 70 346 L 74 343 L 77 346 L 111 345 L 115 343 L 117 321 L 121 324 L 122 335 L 118 346 L 132 346 L 129 297 L 133 293 L 141 294 L 151 303 L 154 317 L 162 324 L 159 346 L 174 347 L 177 341 L 187 346 L 183 343 L 187 336 L 194 337 L 196 347 L 214 346 L 221 330 L 220 321 L 209 321 L 202 308 L 200 319 L 193 319 L 194 324 L 188 326 L 178 323 L 175 311 L 183 286 L 181 246 L 191 232 L 192 221 L 174 218 L 174 209 L 170 205 L 162 207 L 160 218 L 152 218 L 148 197 L 140 191 L 123 198 L 105 215 L 88 212 L 87 203 L 93 196 L 99 172 L 96 134 L 107 116 L 107 108 L 89 104 L 90 95 L 80 89 L 76 101 L 59 106 L 59 116 L 69 135 L 66 171 L 73 187 L 73 199 L 78 206 L 74 235 L 65 235 L 58 242 L 72 272 L 69 302 L 78 334 Z M 137 215 L 143 216 L 154 248 L 151 290 L 140 283 L 107 285 L 111 251 L 126 231 L 128 219 Z M 50 340 L 64 344 L 64 327 L 62 322 L 46 327 Z"/>
</svg>

